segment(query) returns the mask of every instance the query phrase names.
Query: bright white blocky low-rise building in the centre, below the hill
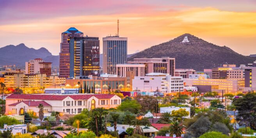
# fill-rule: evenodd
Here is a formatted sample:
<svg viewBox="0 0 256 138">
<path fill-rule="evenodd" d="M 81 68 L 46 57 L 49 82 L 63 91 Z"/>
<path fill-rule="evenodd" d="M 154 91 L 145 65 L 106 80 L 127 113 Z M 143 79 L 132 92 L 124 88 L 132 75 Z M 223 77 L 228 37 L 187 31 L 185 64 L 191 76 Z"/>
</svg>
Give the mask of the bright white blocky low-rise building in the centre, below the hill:
<svg viewBox="0 0 256 138">
<path fill-rule="evenodd" d="M 164 73 L 149 73 L 134 77 L 133 90 L 146 92 L 183 92 L 183 78 Z"/>
</svg>

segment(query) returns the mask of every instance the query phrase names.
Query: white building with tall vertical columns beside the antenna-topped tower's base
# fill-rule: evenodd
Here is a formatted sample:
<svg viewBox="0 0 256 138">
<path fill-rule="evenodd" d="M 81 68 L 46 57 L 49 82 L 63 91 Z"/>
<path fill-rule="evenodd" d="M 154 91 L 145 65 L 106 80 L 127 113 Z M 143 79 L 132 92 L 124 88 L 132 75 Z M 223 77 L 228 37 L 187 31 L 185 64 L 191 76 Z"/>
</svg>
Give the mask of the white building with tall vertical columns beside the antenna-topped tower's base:
<svg viewBox="0 0 256 138">
<path fill-rule="evenodd" d="M 127 71 L 133 71 L 135 76 L 145 76 L 144 64 L 117 64 L 116 74 L 120 77 L 126 77 Z"/>
</svg>

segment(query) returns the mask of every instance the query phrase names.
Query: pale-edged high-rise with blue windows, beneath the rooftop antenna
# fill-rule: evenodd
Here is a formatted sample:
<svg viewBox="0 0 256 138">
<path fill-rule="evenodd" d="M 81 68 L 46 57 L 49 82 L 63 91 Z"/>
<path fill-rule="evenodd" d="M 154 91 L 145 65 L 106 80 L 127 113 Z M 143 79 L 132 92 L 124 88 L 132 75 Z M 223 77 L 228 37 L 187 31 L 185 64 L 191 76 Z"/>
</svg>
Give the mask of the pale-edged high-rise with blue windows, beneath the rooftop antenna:
<svg viewBox="0 0 256 138">
<path fill-rule="evenodd" d="M 127 62 L 127 37 L 103 37 L 103 73 L 116 74 L 116 64 Z"/>
</svg>

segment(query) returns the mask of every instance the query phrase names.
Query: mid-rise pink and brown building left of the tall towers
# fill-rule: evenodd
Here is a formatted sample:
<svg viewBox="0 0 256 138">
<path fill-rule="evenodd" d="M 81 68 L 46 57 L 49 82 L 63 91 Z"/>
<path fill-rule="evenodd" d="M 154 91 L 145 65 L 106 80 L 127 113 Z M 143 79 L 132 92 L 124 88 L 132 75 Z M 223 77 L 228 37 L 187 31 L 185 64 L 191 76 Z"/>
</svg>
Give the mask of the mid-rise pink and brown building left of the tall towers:
<svg viewBox="0 0 256 138">
<path fill-rule="evenodd" d="M 44 62 L 42 58 L 36 58 L 25 62 L 25 74 L 46 74 L 52 73 L 52 62 Z"/>
</svg>

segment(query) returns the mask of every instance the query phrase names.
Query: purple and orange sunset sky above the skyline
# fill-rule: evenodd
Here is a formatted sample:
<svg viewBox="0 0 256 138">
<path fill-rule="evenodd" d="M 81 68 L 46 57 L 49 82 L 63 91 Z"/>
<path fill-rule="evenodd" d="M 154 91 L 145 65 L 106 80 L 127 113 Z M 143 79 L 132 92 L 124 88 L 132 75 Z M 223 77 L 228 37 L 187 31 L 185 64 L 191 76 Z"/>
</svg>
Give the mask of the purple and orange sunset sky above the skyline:
<svg viewBox="0 0 256 138">
<path fill-rule="evenodd" d="M 256 54 L 256 0 L 0 0 L 0 47 L 24 43 L 59 55 L 61 33 L 128 37 L 128 54 L 189 33 Z"/>
</svg>

